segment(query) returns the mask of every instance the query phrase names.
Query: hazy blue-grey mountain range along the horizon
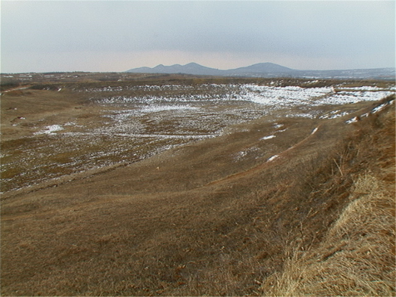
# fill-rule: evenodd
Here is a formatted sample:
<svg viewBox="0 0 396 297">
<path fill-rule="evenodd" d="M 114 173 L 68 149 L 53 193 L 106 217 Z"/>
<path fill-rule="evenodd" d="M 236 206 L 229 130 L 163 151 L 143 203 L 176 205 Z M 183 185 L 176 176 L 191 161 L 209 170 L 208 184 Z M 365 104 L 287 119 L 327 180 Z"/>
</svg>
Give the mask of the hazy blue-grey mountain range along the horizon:
<svg viewBox="0 0 396 297">
<path fill-rule="evenodd" d="M 197 63 L 186 65 L 175 64 L 164 66 L 162 64 L 150 68 L 140 67 L 129 69 L 126 72 L 132 73 L 184 73 L 194 75 L 214 75 L 214 76 L 241 76 L 241 77 L 294 77 L 294 78 L 366 78 L 366 79 L 386 79 L 394 80 L 396 76 L 395 68 L 374 68 L 374 69 L 346 69 L 346 70 L 296 70 L 274 63 L 257 63 L 247 67 L 236 69 L 220 70 L 209 68 Z"/>
</svg>

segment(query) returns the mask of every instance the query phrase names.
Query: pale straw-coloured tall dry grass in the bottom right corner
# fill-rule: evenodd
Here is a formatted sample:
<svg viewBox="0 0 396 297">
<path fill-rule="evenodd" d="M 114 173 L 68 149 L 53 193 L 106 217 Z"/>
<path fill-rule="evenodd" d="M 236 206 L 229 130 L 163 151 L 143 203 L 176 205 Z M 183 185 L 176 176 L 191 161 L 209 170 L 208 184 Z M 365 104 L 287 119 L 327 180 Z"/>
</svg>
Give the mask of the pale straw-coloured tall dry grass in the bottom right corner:
<svg viewBox="0 0 396 297">
<path fill-rule="evenodd" d="M 296 248 L 283 272 L 267 278 L 264 295 L 395 295 L 394 185 L 367 173 L 350 200 L 318 247 Z"/>
</svg>

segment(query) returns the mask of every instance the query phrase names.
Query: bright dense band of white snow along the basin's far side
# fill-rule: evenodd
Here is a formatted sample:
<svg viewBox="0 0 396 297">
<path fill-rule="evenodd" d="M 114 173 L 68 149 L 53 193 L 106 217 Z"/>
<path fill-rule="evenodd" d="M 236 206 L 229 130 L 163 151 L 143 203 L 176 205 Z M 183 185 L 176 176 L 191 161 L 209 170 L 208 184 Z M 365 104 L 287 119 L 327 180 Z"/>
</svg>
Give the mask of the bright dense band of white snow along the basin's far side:
<svg viewBox="0 0 396 297">
<path fill-rule="evenodd" d="M 143 90 L 181 88 L 187 86 L 140 86 Z M 319 106 L 324 104 L 338 105 L 346 103 L 357 103 L 360 101 L 376 101 L 394 93 L 377 87 L 364 86 L 360 88 L 344 88 L 341 91 L 335 91 L 333 87 L 321 88 L 302 88 L 299 86 L 259 86 L 257 84 L 234 84 L 234 85 L 201 85 L 202 90 L 211 90 L 210 88 L 224 90 L 224 92 L 211 93 L 210 91 L 190 94 L 190 95 L 169 95 L 156 96 L 145 95 L 136 97 L 108 97 L 101 99 L 104 104 L 112 103 L 155 103 L 155 102 L 217 102 L 217 101 L 250 101 L 260 105 L 272 106 L 276 108 L 289 108 L 298 105 Z M 206 89 L 205 89 L 206 88 Z"/>
</svg>

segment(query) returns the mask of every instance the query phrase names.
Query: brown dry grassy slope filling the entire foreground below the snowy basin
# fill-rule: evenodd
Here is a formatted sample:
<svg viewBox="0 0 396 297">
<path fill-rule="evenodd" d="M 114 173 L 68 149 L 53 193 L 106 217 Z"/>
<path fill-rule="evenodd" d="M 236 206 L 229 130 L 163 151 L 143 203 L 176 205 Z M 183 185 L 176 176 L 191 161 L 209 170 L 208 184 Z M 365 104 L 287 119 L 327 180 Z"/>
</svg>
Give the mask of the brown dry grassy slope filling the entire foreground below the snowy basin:
<svg viewBox="0 0 396 297">
<path fill-rule="evenodd" d="M 290 120 L 280 158 L 238 168 L 257 120 L 4 200 L 1 293 L 394 295 L 394 117 Z"/>
</svg>

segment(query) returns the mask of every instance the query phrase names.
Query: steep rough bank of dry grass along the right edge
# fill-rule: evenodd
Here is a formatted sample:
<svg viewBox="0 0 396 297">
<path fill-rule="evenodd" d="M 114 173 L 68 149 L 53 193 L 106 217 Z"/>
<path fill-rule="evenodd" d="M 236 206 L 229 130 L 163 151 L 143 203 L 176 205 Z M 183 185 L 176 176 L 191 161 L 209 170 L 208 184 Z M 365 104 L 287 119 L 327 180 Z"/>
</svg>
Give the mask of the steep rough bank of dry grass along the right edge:
<svg viewBox="0 0 396 297">
<path fill-rule="evenodd" d="M 380 119 L 357 124 L 366 134 L 355 162 L 364 167 L 352 174 L 347 206 L 318 246 L 297 240 L 284 269 L 265 280 L 265 295 L 395 295 L 394 110 Z"/>
</svg>

